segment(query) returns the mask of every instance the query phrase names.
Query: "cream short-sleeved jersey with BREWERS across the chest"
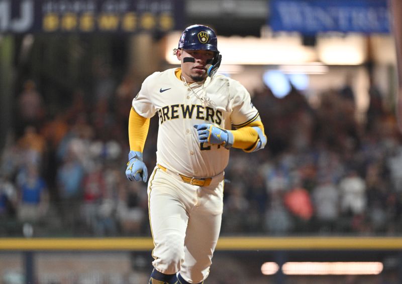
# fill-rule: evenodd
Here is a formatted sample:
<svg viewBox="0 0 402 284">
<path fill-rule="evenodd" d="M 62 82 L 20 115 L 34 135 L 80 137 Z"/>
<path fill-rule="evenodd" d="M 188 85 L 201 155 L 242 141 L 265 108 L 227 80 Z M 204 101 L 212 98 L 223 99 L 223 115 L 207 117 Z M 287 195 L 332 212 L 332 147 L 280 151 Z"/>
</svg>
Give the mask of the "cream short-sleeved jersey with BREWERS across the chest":
<svg viewBox="0 0 402 284">
<path fill-rule="evenodd" d="M 241 127 L 258 118 L 258 111 L 236 80 L 217 74 L 188 86 L 176 77 L 175 70 L 148 76 L 132 105 L 143 117 L 159 116 L 158 164 L 188 177 L 214 177 L 226 168 L 229 150 L 200 144 L 193 126 Z"/>
</svg>

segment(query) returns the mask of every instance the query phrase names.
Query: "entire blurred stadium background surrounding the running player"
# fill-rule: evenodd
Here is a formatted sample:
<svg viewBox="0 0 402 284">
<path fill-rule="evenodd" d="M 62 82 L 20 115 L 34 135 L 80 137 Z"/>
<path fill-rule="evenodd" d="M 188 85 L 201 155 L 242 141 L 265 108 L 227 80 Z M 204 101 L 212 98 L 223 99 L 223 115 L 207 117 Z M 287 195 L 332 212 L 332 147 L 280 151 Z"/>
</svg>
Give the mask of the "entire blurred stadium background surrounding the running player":
<svg viewBox="0 0 402 284">
<path fill-rule="evenodd" d="M 221 238 L 257 245 L 218 246 L 206 282 L 402 282 L 391 8 L 385 0 L 0 0 L 2 283 L 147 282 L 147 245 L 60 252 L 7 243 L 151 237 L 146 185 L 124 174 L 128 115 L 148 75 L 179 67 L 173 48 L 192 24 L 215 29 L 219 72 L 248 89 L 268 137 L 263 151 L 232 150 L 225 171 Z M 148 169 L 157 128 L 151 119 Z M 314 237 L 328 246 L 297 250 Z M 337 246 L 344 237 L 348 245 Z M 364 237 L 377 245 L 359 249 Z M 278 239 L 289 242 L 266 248 Z M 285 269 L 307 260 L 374 268 Z"/>
</svg>

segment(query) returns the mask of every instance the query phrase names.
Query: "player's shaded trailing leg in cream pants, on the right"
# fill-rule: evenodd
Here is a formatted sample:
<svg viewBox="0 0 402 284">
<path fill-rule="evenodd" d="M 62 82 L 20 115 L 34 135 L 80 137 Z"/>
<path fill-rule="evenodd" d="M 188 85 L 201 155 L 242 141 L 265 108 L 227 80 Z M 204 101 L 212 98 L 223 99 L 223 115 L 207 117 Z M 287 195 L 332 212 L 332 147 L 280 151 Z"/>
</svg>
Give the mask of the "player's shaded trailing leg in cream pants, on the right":
<svg viewBox="0 0 402 284">
<path fill-rule="evenodd" d="M 202 283 L 208 277 L 218 242 L 223 211 L 223 181 L 198 191 L 198 206 L 189 212 L 184 262 L 178 283 Z"/>
</svg>

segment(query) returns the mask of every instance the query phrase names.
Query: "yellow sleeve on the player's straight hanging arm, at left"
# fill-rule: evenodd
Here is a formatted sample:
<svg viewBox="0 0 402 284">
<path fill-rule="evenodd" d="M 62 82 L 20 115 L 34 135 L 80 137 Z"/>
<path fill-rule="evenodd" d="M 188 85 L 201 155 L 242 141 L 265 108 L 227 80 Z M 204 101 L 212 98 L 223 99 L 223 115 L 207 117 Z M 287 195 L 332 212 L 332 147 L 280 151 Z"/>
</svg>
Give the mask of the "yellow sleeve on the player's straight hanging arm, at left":
<svg viewBox="0 0 402 284">
<path fill-rule="evenodd" d="M 131 107 L 129 116 L 129 143 L 131 151 L 141 153 L 144 151 L 150 120 L 150 118 L 139 115 L 134 108 Z"/>
</svg>

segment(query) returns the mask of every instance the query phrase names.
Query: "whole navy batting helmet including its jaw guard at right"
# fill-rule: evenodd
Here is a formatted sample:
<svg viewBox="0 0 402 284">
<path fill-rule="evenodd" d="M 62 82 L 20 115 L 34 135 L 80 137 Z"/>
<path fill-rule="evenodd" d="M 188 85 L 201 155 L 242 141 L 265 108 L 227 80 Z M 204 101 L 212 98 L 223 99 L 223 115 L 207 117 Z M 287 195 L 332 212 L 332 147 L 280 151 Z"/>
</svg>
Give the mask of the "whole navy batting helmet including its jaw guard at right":
<svg viewBox="0 0 402 284">
<path fill-rule="evenodd" d="M 192 25 L 187 27 L 181 34 L 179 49 L 187 50 L 211 50 L 214 58 L 207 74 L 212 77 L 221 65 L 222 55 L 219 54 L 218 40 L 213 29 L 204 25 Z"/>
</svg>

